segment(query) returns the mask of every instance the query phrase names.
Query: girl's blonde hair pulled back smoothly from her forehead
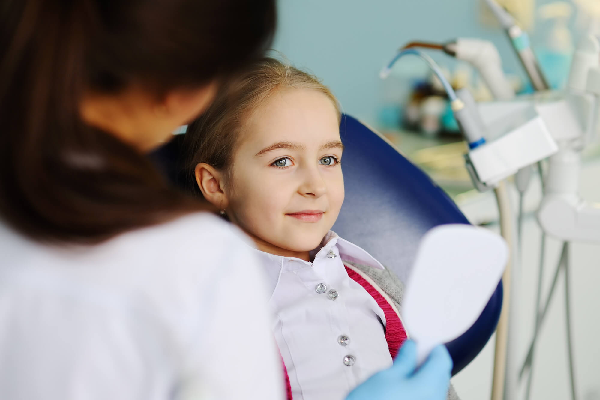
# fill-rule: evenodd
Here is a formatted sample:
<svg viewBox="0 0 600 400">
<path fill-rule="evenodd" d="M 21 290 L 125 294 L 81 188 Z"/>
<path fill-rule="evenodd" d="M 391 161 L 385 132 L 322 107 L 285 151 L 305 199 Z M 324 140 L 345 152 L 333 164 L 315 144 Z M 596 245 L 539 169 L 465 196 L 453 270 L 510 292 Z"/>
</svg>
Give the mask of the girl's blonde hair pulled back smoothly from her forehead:
<svg viewBox="0 0 600 400">
<path fill-rule="evenodd" d="M 227 83 L 211 107 L 192 122 L 184 139 L 188 151 L 186 170 L 196 187 L 194 169 L 198 163 L 229 172 L 244 125 L 274 94 L 287 89 L 312 89 L 334 103 L 340 119 L 340 106 L 329 88 L 317 77 L 275 58 L 265 57 Z"/>
</svg>

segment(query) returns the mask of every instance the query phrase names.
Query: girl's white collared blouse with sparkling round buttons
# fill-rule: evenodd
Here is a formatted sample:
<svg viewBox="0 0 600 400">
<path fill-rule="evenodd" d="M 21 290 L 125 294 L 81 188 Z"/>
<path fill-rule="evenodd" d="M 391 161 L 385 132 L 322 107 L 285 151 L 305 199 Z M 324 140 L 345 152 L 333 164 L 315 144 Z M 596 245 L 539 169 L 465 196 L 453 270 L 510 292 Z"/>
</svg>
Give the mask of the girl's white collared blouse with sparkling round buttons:
<svg viewBox="0 0 600 400">
<path fill-rule="evenodd" d="M 368 252 L 329 232 L 312 263 L 266 252 L 272 325 L 294 400 L 339 400 L 392 365 L 385 314 L 348 276 L 343 260 L 383 269 Z"/>
</svg>

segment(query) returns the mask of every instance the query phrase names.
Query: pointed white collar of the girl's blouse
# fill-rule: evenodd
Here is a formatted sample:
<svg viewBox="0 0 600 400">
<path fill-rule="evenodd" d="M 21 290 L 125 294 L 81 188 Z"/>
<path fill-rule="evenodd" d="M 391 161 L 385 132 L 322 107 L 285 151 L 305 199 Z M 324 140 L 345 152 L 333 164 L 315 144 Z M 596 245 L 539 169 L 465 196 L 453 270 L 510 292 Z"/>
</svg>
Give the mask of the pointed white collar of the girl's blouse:
<svg viewBox="0 0 600 400">
<path fill-rule="evenodd" d="M 301 260 L 300 258 L 283 257 L 283 255 L 270 254 L 268 252 L 260 251 L 259 249 L 254 249 L 254 251 L 256 251 L 259 262 L 266 272 L 268 287 L 271 288 L 269 293 L 272 293 L 275 290 L 275 287 L 277 287 L 277 282 L 279 281 L 279 276 L 281 275 L 281 270 L 283 269 L 285 261 L 295 261 L 307 266 L 312 266 L 312 263 Z M 342 261 L 363 264 L 376 269 L 385 269 L 373 255 L 354 243 L 343 239 L 331 230 L 325 235 L 321 245 L 311 251 L 311 257 L 315 259 L 327 257 L 330 251 L 334 251 L 335 254 L 339 253 Z"/>
</svg>

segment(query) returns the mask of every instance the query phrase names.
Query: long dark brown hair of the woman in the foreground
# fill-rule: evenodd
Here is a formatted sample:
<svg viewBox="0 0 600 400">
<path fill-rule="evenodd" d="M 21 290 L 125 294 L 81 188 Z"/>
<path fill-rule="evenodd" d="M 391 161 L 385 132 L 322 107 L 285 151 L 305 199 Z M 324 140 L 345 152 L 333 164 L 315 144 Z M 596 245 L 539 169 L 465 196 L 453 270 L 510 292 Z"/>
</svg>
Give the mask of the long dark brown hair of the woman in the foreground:
<svg viewBox="0 0 600 400">
<path fill-rule="evenodd" d="M 275 0 L 2 1 L 0 218 L 35 240 L 98 243 L 200 209 L 86 125 L 82 94 L 226 80 L 263 55 L 275 19 Z"/>
</svg>

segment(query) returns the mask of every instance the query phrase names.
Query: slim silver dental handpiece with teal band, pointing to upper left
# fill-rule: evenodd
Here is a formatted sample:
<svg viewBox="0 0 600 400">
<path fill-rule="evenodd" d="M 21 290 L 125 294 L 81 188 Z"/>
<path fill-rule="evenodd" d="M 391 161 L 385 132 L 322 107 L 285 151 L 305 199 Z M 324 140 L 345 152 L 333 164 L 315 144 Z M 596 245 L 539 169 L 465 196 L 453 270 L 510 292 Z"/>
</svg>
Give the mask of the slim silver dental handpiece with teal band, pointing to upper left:
<svg viewBox="0 0 600 400">
<path fill-rule="evenodd" d="M 505 29 L 508 38 L 511 40 L 512 47 L 517 52 L 518 58 L 525 68 L 525 72 L 531 80 L 533 89 L 536 91 L 544 91 L 550 89 L 544 73 L 539 67 L 538 61 L 533 54 L 529 35 L 517 25 L 515 19 L 504 8 L 500 7 L 494 0 L 485 0 L 491 11 L 494 13 L 502 28 Z"/>
</svg>

